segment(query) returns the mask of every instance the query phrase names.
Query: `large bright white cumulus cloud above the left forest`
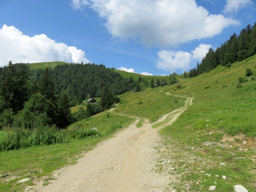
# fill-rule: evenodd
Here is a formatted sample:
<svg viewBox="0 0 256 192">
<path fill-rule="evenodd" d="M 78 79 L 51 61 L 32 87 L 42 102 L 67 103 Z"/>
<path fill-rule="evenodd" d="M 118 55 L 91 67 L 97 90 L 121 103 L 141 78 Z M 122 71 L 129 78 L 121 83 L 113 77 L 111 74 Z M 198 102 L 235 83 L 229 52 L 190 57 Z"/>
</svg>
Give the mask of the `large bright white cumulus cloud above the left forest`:
<svg viewBox="0 0 256 192">
<path fill-rule="evenodd" d="M 14 26 L 0 28 L 0 66 L 13 62 L 65 61 L 87 63 L 84 51 L 48 38 L 45 34 L 28 36 Z"/>
</svg>

